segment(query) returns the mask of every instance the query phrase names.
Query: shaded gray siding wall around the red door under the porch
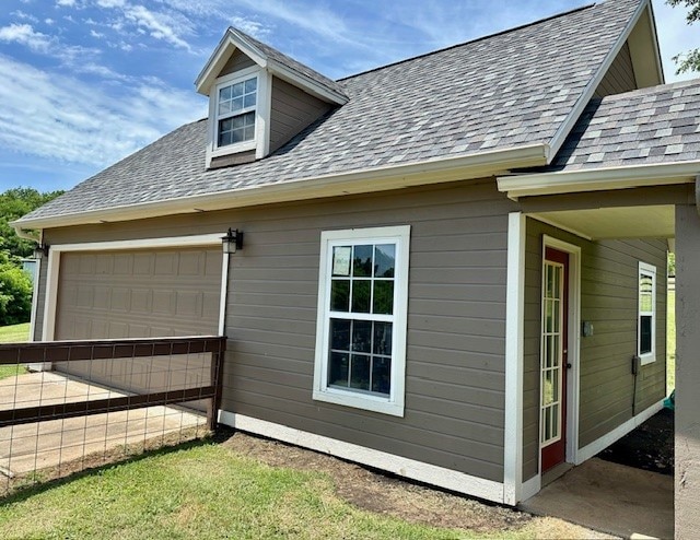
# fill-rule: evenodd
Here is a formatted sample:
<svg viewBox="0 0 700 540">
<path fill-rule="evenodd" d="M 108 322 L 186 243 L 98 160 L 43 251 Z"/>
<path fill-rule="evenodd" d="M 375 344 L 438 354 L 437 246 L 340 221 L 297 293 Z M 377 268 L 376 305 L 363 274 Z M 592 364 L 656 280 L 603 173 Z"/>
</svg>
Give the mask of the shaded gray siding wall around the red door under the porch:
<svg viewBox="0 0 700 540">
<path fill-rule="evenodd" d="M 581 319 L 594 334 L 581 338 L 580 438 L 582 448 L 632 418 L 637 353 L 639 261 L 656 266 L 656 362 L 638 378 L 637 413 L 665 395 L 666 240 L 588 242 L 527 220 L 525 275 L 525 383 L 523 478 L 534 477 L 539 453 L 539 334 L 542 235 L 581 247 Z"/>
</svg>

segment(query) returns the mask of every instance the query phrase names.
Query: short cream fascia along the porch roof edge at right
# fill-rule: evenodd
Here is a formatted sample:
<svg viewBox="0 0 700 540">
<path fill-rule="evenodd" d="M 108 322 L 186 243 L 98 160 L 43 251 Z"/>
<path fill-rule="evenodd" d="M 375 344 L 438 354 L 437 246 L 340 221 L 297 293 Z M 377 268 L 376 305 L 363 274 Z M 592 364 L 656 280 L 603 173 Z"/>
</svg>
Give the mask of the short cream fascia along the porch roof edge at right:
<svg viewBox="0 0 700 540">
<path fill-rule="evenodd" d="M 699 173 L 700 161 L 690 161 L 500 176 L 497 181 L 499 191 L 506 192 L 509 198 L 517 200 L 520 197 L 541 195 L 690 184 Z"/>
</svg>

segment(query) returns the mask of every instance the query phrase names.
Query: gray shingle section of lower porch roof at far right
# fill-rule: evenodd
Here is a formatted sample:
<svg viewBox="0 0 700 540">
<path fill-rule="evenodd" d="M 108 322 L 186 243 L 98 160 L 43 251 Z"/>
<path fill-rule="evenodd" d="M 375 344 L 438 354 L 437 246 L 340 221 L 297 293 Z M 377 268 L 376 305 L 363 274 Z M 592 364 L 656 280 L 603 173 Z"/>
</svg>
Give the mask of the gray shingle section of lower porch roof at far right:
<svg viewBox="0 0 700 540">
<path fill-rule="evenodd" d="M 548 169 L 700 160 L 700 79 L 593 99 Z"/>
</svg>

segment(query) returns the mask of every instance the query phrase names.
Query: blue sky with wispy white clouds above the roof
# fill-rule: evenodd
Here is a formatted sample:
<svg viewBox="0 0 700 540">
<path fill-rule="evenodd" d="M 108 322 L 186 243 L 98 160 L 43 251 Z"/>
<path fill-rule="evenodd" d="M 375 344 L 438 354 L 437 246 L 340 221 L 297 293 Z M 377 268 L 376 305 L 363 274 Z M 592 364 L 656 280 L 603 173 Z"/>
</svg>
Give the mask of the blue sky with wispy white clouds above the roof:
<svg viewBox="0 0 700 540">
<path fill-rule="evenodd" d="M 0 191 L 69 189 L 205 117 L 194 80 L 229 25 L 337 79 L 585 3 L 2 0 Z M 664 0 L 654 11 L 672 82 L 670 57 L 700 46 L 700 26 Z"/>
</svg>

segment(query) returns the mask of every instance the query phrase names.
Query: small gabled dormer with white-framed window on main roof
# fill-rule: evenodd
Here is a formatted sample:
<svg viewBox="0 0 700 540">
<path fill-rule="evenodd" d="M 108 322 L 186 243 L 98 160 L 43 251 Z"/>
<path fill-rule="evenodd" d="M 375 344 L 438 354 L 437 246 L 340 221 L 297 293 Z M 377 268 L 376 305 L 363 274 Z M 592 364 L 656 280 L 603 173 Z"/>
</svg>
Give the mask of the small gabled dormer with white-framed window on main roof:
<svg viewBox="0 0 700 540">
<path fill-rule="evenodd" d="M 348 102 L 335 81 L 235 28 L 195 85 L 209 96 L 207 168 L 260 160 Z"/>
</svg>

